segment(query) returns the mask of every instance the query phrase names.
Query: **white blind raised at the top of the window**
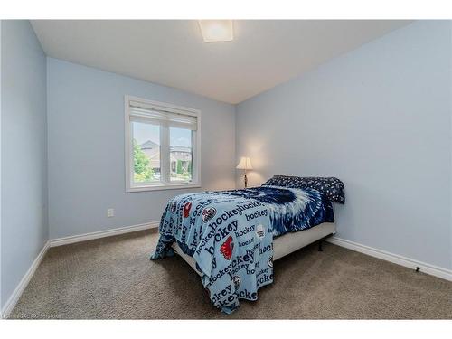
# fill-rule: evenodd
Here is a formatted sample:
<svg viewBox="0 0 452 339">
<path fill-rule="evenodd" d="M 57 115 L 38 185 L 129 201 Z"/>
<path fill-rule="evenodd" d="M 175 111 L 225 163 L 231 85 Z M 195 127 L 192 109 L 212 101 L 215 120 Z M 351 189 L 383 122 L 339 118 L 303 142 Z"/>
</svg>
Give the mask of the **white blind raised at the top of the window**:
<svg viewBox="0 0 452 339">
<path fill-rule="evenodd" d="M 146 108 L 139 102 L 130 101 L 130 121 L 147 122 L 156 125 L 165 124 L 169 127 L 186 128 L 195 131 L 198 128 L 198 119 L 194 116 L 170 112 L 155 108 Z"/>
</svg>

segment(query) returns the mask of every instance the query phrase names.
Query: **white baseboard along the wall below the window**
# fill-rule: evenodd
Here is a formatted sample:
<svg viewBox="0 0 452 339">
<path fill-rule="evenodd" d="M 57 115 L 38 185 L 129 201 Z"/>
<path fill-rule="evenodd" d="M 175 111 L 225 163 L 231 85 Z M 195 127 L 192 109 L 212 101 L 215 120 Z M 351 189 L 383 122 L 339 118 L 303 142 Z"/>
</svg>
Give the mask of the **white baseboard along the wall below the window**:
<svg viewBox="0 0 452 339">
<path fill-rule="evenodd" d="M 50 240 L 50 246 L 56 247 L 61 245 L 68 245 L 74 242 L 94 240 L 99 238 L 111 237 L 113 235 L 130 233 L 134 231 L 142 231 L 148 229 L 158 228 L 159 221 L 152 221 L 147 223 L 141 223 L 139 225 L 119 227 L 118 229 L 106 230 L 106 231 L 95 231 L 79 235 L 71 235 L 69 237 L 57 238 Z"/>
</svg>

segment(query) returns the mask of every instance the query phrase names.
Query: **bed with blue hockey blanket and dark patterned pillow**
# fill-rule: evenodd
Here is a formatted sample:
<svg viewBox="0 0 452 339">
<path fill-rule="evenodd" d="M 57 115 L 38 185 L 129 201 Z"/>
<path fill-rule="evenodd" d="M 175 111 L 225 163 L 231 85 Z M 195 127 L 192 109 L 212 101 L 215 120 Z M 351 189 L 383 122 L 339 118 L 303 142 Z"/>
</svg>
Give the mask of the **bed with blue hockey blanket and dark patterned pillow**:
<svg viewBox="0 0 452 339">
<path fill-rule="evenodd" d="M 170 200 L 151 259 L 180 255 L 214 306 L 229 314 L 273 282 L 273 261 L 334 234 L 337 178 L 275 175 L 244 190 L 182 194 Z"/>
</svg>

